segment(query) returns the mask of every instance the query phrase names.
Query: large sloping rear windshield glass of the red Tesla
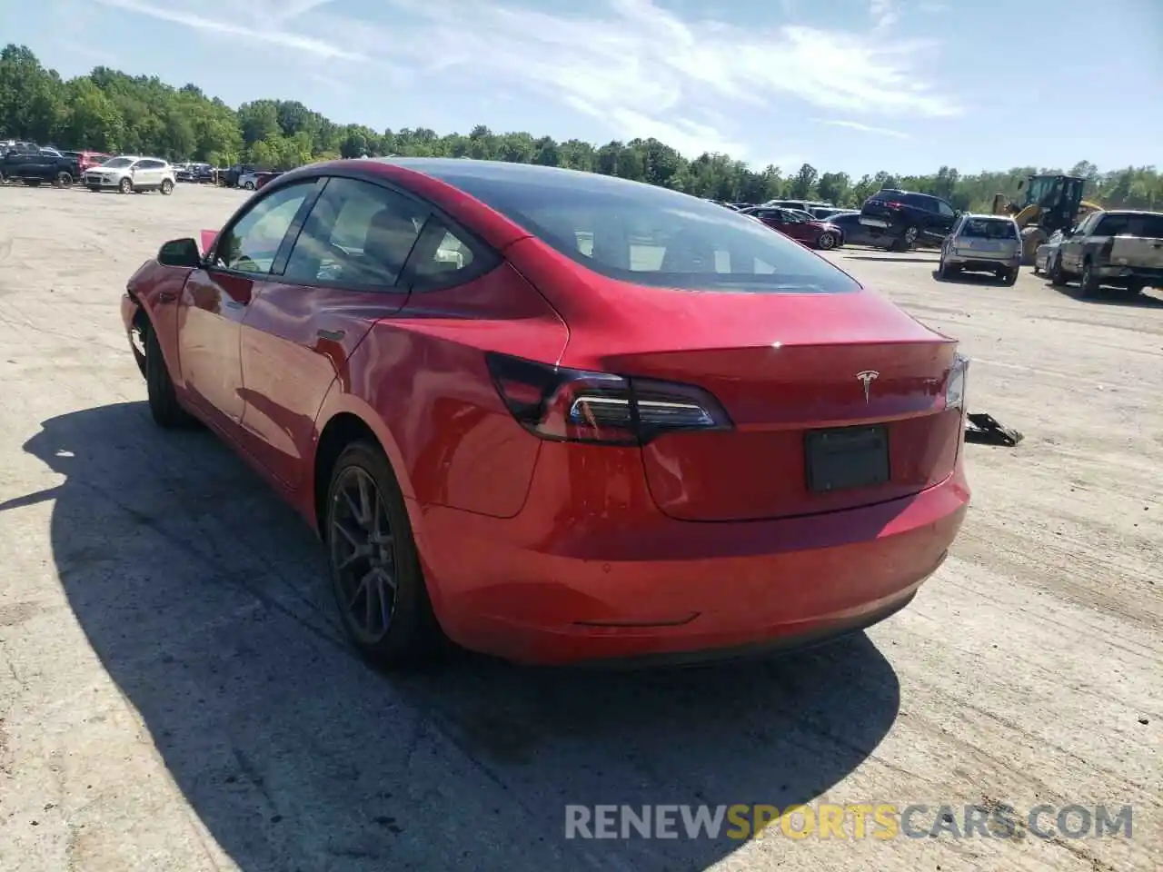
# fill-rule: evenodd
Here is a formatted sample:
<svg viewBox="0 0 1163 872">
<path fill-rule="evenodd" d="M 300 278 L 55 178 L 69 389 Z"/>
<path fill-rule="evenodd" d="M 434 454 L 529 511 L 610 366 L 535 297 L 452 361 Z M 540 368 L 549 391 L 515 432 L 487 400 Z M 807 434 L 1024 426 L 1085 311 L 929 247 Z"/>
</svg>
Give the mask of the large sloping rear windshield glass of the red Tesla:
<svg viewBox="0 0 1163 872">
<path fill-rule="evenodd" d="M 572 184 L 540 174 L 530 181 L 444 180 L 612 279 L 758 293 L 859 288 L 847 273 L 756 219 L 666 188 L 601 177 Z"/>
</svg>

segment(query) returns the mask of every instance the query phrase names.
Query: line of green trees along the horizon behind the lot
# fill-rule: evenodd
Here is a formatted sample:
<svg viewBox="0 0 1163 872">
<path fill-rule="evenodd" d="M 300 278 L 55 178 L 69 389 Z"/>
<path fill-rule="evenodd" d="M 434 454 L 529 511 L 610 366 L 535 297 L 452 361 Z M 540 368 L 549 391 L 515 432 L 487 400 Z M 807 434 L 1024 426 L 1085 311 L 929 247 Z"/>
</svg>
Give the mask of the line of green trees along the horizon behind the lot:
<svg viewBox="0 0 1163 872">
<path fill-rule="evenodd" d="M 926 176 L 878 172 L 852 178 L 807 163 L 785 171 L 770 165 L 758 170 L 728 155 L 692 158 L 654 138 L 594 145 L 528 133 L 498 134 L 483 124 L 444 136 L 427 128 L 377 131 L 336 124 L 294 100 L 255 100 L 235 109 L 197 85 L 176 88 L 156 76 L 128 76 L 106 66 L 65 80 L 27 47 L 14 44 L 0 51 L 0 136 L 76 150 L 205 160 L 215 166 L 252 163 L 274 170 L 364 155 L 511 160 L 619 176 L 730 202 L 787 198 L 859 206 L 882 187 L 901 187 L 944 198 L 958 209 L 987 210 L 996 193 L 1014 196 L 1025 177 L 1063 172 L 1016 166 L 962 174 L 942 166 Z M 1087 200 L 1110 208 L 1163 209 L 1163 174 L 1154 166 L 1103 172 L 1082 160 L 1065 171 L 1087 180 Z"/>
</svg>

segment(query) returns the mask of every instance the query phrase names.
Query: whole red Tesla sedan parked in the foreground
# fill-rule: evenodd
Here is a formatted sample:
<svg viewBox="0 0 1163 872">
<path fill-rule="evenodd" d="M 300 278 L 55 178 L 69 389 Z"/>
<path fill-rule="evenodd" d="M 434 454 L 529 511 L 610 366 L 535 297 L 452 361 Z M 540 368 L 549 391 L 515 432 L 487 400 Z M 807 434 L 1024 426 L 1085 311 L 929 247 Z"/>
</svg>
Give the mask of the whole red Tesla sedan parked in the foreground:
<svg viewBox="0 0 1163 872">
<path fill-rule="evenodd" d="M 164 244 L 122 315 L 154 419 L 294 505 L 381 662 L 818 642 L 905 606 L 969 502 L 956 342 L 665 188 L 315 164 Z"/>
</svg>

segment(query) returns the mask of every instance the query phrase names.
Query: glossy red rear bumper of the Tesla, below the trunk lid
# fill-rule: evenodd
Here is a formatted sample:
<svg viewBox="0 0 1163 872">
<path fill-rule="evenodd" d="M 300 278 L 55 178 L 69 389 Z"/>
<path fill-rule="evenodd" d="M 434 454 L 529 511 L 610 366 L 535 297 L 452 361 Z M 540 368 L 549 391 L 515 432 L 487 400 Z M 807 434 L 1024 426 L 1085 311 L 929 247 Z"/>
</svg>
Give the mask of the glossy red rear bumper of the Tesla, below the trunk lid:
<svg viewBox="0 0 1163 872">
<path fill-rule="evenodd" d="M 441 624 L 527 663 L 713 659 L 811 643 L 906 605 L 944 559 L 969 488 L 861 509 L 699 523 L 662 515 L 641 460 L 544 443 L 520 514 L 413 506 Z M 688 655 L 693 655 L 688 657 Z"/>
</svg>

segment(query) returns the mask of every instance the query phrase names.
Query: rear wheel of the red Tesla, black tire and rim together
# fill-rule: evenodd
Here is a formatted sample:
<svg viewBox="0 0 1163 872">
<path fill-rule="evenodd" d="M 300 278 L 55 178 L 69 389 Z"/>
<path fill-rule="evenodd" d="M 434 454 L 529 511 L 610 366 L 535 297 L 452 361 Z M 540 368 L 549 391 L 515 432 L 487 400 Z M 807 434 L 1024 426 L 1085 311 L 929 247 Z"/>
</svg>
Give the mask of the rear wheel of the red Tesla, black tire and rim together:
<svg viewBox="0 0 1163 872">
<path fill-rule="evenodd" d="M 323 524 L 335 605 L 356 651 L 378 666 L 429 659 L 442 635 L 404 495 L 378 445 L 356 441 L 340 455 Z"/>
</svg>

